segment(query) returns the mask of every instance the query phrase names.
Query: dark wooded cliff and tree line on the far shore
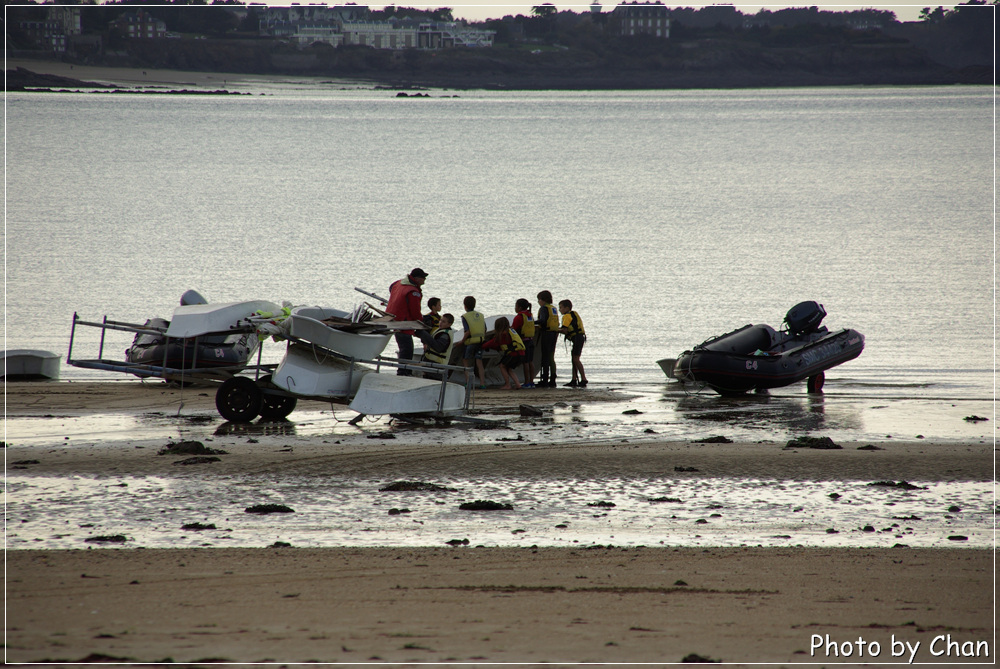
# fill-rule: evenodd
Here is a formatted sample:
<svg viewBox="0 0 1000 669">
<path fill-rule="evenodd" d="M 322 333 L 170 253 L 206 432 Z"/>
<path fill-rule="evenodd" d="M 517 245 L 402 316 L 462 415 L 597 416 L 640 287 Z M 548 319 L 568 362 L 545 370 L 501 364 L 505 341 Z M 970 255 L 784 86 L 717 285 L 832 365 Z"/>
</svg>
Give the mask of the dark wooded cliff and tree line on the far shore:
<svg viewBox="0 0 1000 669">
<path fill-rule="evenodd" d="M 901 23 L 885 10 L 820 11 L 815 7 L 743 14 L 729 6 L 672 8 L 669 39 L 621 36 L 611 12 L 559 11 L 554 5 L 475 25 L 496 32 L 492 49 L 408 50 L 313 44 L 298 49 L 261 38 L 253 6 L 235 0 L 205 4 L 129 0 L 86 5 L 84 33 L 105 50 L 69 54 L 94 64 L 257 73 L 364 76 L 384 81 L 498 86 L 587 82 L 623 85 L 773 85 L 782 83 L 988 83 L 992 81 L 994 6 L 970 0 L 953 9 L 926 8 L 921 20 Z M 60 3 L 63 4 L 63 3 Z M 137 6 L 181 39 L 127 40 L 115 18 Z M 153 8 L 155 5 L 155 9 Z M 197 11 L 192 5 L 201 5 Z M 233 13 L 232 8 L 244 11 Z M 540 8 L 542 11 L 538 11 Z M 20 20 L 43 16 L 45 5 L 8 7 L 8 50 L 30 49 Z M 389 17 L 450 20 L 452 10 L 387 6 Z M 208 36 L 209 39 L 192 39 Z M 449 81 L 453 80 L 453 81 Z M 520 84 L 519 84 L 520 82 Z M 547 82 L 547 83 L 546 83 Z M 631 82 L 631 83 L 630 83 Z M 685 83 L 687 82 L 687 83 Z"/>
</svg>

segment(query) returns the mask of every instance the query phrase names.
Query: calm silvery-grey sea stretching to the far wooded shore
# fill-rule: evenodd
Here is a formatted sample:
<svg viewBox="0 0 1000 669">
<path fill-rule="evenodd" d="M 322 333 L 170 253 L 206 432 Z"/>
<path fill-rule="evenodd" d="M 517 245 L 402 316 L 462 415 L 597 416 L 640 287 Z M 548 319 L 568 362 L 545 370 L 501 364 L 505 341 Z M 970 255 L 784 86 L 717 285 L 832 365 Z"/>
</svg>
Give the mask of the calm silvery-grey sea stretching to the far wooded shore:
<svg viewBox="0 0 1000 669">
<path fill-rule="evenodd" d="M 6 347 L 65 355 L 74 312 L 169 318 L 189 288 L 350 309 L 419 266 L 456 314 L 571 299 L 592 385 L 816 300 L 867 338 L 829 393 L 993 398 L 987 87 L 229 87 L 253 95 L 7 95 Z"/>
</svg>

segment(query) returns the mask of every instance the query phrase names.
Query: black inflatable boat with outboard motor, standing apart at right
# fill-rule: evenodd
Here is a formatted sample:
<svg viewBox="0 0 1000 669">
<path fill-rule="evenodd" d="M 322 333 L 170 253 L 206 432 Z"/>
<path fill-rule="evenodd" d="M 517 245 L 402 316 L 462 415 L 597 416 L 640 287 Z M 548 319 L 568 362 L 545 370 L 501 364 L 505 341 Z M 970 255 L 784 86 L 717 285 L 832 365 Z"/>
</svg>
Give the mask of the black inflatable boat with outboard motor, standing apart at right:
<svg viewBox="0 0 1000 669">
<path fill-rule="evenodd" d="M 865 338 L 843 329 L 821 326 L 826 311 L 802 302 L 785 315 L 784 327 L 745 325 L 684 351 L 674 364 L 680 381 L 708 386 L 720 395 L 780 388 L 807 380 L 811 393 L 821 392 L 824 372 L 861 355 Z"/>
</svg>

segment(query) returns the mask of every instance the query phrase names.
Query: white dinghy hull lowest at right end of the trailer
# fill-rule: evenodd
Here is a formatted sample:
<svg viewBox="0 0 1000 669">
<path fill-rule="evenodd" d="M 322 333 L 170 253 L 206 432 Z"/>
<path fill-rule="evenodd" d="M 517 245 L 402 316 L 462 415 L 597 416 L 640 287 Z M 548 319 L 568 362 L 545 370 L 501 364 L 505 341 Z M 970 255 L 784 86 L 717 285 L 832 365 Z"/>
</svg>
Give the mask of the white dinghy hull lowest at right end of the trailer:
<svg viewBox="0 0 1000 669">
<path fill-rule="evenodd" d="M 350 407 L 368 416 L 462 411 L 465 408 L 465 387 L 454 383 L 444 385 L 444 401 L 439 408 L 440 381 L 394 374 L 369 374 L 361 381 Z"/>
</svg>

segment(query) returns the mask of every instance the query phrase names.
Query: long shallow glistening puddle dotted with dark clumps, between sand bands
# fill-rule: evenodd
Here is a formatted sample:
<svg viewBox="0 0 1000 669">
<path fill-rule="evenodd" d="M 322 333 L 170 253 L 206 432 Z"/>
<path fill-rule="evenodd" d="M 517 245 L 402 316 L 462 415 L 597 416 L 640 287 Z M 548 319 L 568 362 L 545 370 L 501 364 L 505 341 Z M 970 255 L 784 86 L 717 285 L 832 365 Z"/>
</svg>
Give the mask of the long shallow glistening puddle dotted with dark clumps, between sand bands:
<svg viewBox="0 0 1000 669">
<path fill-rule="evenodd" d="M 387 480 L 25 476 L 7 485 L 7 546 L 860 546 L 992 545 L 989 482 L 747 479 L 444 479 L 439 492 Z M 465 511 L 488 500 L 512 510 Z M 292 513 L 246 508 L 281 504 Z M 204 529 L 183 529 L 199 523 Z M 214 527 L 213 527 L 214 526 Z M 124 543 L 87 542 L 121 535 Z M 965 537 L 954 539 L 952 537 Z"/>
</svg>

